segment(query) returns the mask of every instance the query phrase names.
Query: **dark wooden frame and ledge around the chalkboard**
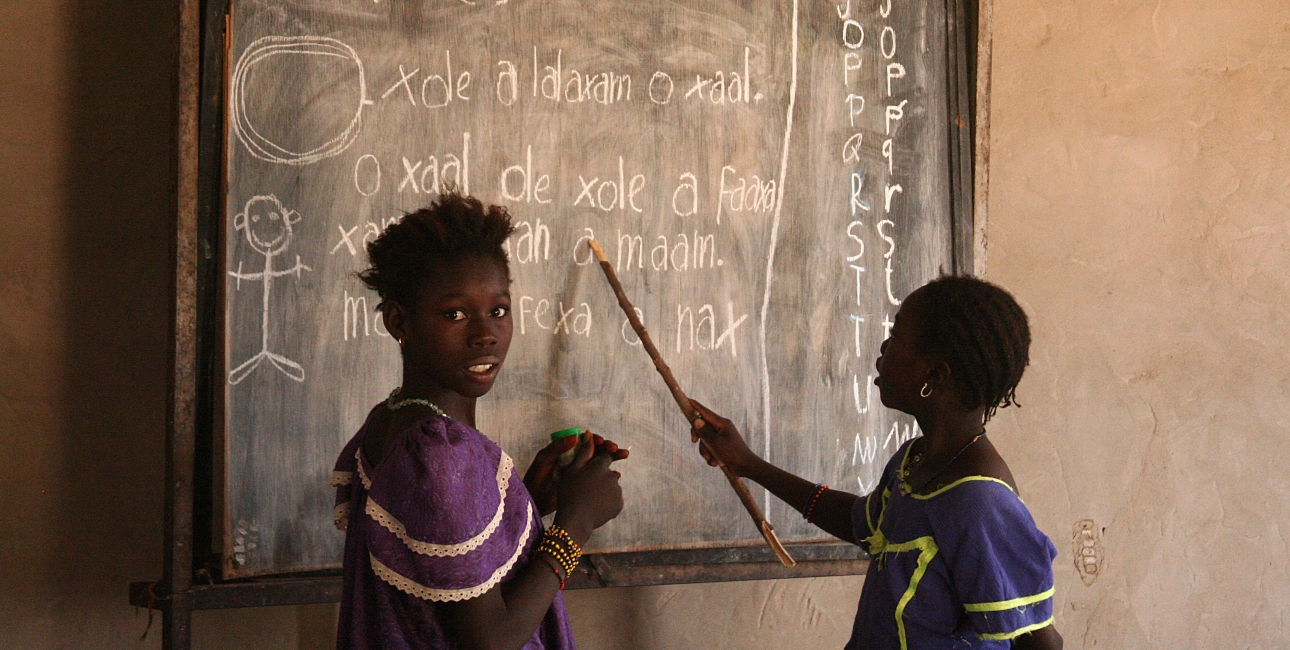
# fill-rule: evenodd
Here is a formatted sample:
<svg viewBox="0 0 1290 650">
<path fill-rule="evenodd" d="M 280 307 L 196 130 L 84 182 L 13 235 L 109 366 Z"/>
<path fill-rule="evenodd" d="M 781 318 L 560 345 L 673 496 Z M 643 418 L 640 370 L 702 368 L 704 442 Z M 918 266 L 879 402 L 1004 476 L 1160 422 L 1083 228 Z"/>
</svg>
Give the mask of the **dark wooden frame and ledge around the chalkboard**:
<svg viewBox="0 0 1290 650">
<path fill-rule="evenodd" d="M 947 4 L 946 53 L 953 272 L 974 270 L 974 102 L 978 92 L 977 0 Z M 169 400 L 163 576 L 133 583 L 135 606 L 163 613 L 163 647 L 187 649 L 192 611 L 337 602 L 332 573 L 222 580 L 214 526 L 222 516 L 217 480 L 221 356 L 224 41 L 228 0 L 179 0 L 175 34 L 175 206 L 172 231 Z M 989 22 L 980 23 L 989 28 Z M 988 34 L 986 39 L 988 39 Z M 988 71 L 984 75 L 988 79 Z M 784 569 L 766 548 L 609 553 L 583 558 L 571 588 L 858 575 L 867 558 L 849 544 L 795 544 Z"/>
</svg>

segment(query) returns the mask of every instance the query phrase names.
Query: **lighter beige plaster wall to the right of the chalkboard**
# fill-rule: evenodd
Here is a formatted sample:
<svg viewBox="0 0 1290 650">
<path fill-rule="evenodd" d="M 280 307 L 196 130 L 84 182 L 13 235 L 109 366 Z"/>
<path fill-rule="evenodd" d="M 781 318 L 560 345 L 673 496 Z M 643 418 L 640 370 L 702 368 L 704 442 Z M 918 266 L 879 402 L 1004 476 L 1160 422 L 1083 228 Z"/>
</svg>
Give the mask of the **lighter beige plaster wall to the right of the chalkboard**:
<svg viewBox="0 0 1290 650">
<path fill-rule="evenodd" d="M 993 26 L 986 276 L 1035 343 L 989 431 L 1062 551 L 1067 647 L 1287 647 L 1290 3 Z"/>
</svg>

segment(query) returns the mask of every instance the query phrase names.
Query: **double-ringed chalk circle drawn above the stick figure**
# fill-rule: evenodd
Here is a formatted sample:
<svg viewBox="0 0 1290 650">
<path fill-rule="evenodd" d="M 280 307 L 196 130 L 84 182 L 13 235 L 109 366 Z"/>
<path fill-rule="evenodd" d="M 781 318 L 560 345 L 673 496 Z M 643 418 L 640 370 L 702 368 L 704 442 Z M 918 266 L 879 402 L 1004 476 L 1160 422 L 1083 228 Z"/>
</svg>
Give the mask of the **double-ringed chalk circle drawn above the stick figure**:
<svg viewBox="0 0 1290 650">
<path fill-rule="evenodd" d="M 252 70 L 281 54 L 338 57 L 352 62 L 359 74 L 359 103 L 353 108 L 350 124 L 334 138 L 308 151 L 290 151 L 270 141 L 255 129 L 246 111 L 246 85 Z M 326 36 L 264 36 L 255 40 L 237 58 L 228 94 L 232 98 L 228 117 L 237 139 L 246 147 L 246 151 L 261 160 L 284 165 L 308 165 L 348 148 L 359 138 L 359 132 L 362 130 L 362 107 L 373 103 L 368 99 L 368 84 L 359 54 L 344 43 Z"/>
</svg>

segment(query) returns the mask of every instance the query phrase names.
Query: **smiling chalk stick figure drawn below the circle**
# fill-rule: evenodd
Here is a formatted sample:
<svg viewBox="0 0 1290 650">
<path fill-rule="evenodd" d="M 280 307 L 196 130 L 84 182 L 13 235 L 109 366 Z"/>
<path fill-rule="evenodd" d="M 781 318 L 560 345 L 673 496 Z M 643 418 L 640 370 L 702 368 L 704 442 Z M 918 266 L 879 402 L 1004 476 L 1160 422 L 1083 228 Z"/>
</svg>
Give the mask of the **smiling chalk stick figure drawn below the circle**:
<svg viewBox="0 0 1290 650">
<path fill-rule="evenodd" d="M 231 384 L 236 384 L 237 382 L 245 379 L 246 375 L 252 374 L 252 371 L 254 371 L 255 368 L 266 360 L 270 364 L 273 364 L 273 366 L 281 370 L 286 377 L 290 377 L 297 382 L 304 380 L 304 368 L 283 355 L 268 351 L 268 294 L 270 289 L 273 286 L 273 279 L 292 273 L 295 273 L 295 277 L 299 279 L 301 271 L 312 271 L 312 268 L 301 263 L 299 255 L 295 255 L 295 266 L 292 268 L 284 271 L 273 270 L 273 257 L 286 250 L 286 246 L 290 245 L 292 226 L 299 221 L 299 213 L 283 208 L 283 204 L 279 202 L 277 197 L 273 195 L 253 196 L 249 201 L 246 201 L 246 206 L 243 209 L 241 214 L 233 217 L 233 230 L 245 231 L 246 241 L 250 244 L 250 248 L 264 255 L 264 270 L 254 273 L 244 273 L 241 270 L 241 262 L 239 262 L 237 271 L 230 271 L 228 275 L 237 279 L 239 290 L 241 289 L 243 280 L 259 280 L 263 282 L 264 302 L 259 322 L 259 352 L 246 361 L 243 361 L 241 365 L 228 373 L 228 383 Z"/>
</svg>

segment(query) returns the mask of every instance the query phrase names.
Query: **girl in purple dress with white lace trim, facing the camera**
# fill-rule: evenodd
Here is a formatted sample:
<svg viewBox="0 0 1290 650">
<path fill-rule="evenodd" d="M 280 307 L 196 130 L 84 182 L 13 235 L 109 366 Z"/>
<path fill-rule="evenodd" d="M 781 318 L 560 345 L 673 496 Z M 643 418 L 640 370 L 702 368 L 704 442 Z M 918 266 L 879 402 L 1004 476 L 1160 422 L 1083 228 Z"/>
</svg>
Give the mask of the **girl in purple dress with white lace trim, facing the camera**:
<svg viewBox="0 0 1290 650">
<path fill-rule="evenodd" d="M 627 451 L 584 433 L 556 481 L 568 437 L 521 481 L 475 429 L 475 401 L 511 344 L 511 232 L 503 208 L 445 195 L 368 244 L 360 277 L 402 351 L 402 386 L 332 473 L 346 531 L 338 649 L 575 647 L 560 589 L 591 531 L 622 509 L 609 466 Z"/>
</svg>

